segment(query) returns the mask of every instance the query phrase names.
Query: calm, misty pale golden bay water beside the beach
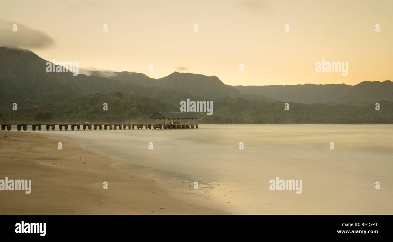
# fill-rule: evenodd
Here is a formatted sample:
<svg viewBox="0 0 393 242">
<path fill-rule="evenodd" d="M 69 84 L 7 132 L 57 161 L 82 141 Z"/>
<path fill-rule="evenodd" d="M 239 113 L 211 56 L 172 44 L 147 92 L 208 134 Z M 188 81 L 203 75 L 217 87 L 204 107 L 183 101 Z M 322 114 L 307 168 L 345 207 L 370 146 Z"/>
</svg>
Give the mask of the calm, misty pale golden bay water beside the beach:
<svg viewBox="0 0 393 242">
<path fill-rule="evenodd" d="M 117 168 L 154 179 L 174 198 L 226 212 L 393 214 L 393 125 L 200 125 L 40 133 L 60 135 L 63 150 L 67 142 L 77 142 L 126 161 Z M 271 191 L 269 181 L 276 177 L 302 179 L 302 193 Z M 375 189 L 376 181 L 380 189 Z"/>
</svg>

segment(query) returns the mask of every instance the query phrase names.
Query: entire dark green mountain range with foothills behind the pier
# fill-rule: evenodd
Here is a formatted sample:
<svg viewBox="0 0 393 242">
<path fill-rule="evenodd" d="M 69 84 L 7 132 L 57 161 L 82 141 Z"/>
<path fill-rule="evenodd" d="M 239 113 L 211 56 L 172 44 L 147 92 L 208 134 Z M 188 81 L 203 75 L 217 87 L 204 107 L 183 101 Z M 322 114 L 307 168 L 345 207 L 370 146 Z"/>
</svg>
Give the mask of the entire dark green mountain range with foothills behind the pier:
<svg viewBox="0 0 393 242">
<path fill-rule="evenodd" d="M 42 122 L 45 112 L 58 122 L 146 122 L 156 111 L 180 111 L 180 101 L 190 98 L 214 103 L 213 115 L 196 113 L 202 123 L 393 123 L 391 81 L 231 87 L 216 76 L 179 72 L 159 79 L 135 72 L 48 73 L 46 62 L 29 50 L 0 47 L 0 121 Z"/>
</svg>

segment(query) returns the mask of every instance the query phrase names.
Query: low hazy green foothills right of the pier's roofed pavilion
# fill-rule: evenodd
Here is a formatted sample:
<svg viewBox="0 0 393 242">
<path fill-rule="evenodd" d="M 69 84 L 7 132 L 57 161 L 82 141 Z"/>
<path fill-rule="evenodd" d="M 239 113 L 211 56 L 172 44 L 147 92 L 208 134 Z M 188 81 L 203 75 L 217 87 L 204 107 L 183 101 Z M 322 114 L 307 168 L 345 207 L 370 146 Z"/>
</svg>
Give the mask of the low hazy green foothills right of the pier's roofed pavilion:
<svg viewBox="0 0 393 242">
<path fill-rule="evenodd" d="M 208 123 L 256 124 L 393 124 L 393 102 L 380 101 L 366 106 L 326 105 L 284 102 L 253 102 L 242 99 L 214 100 L 214 115 L 204 120 Z"/>
</svg>

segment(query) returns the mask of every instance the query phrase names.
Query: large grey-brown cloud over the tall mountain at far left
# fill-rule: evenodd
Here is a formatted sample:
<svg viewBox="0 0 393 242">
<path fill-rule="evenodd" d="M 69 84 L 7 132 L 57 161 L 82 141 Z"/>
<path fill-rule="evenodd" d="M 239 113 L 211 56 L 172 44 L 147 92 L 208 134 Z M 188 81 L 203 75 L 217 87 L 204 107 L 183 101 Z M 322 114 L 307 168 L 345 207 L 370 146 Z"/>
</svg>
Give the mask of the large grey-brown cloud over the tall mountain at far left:
<svg viewBox="0 0 393 242">
<path fill-rule="evenodd" d="M 13 31 L 13 24 L 17 25 L 17 31 L 15 32 Z M 43 31 L 0 18 L 0 46 L 46 49 L 53 46 L 54 42 L 53 38 Z"/>
</svg>

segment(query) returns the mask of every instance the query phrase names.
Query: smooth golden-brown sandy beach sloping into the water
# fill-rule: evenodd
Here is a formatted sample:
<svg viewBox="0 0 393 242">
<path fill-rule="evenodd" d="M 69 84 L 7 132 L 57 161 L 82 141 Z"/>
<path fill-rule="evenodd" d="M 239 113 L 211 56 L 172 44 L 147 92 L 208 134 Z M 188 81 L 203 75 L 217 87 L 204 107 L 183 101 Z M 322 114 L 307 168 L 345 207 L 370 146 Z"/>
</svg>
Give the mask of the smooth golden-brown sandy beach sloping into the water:
<svg viewBox="0 0 393 242">
<path fill-rule="evenodd" d="M 169 197 L 121 161 L 42 133 L 0 131 L 0 179 L 31 179 L 31 193 L 0 191 L 0 214 L 223 214 Z M 66 148 L 64 148 L 66 147 Z M 103 188 L 104 182 L 108 189 Z"/>
</svg>

